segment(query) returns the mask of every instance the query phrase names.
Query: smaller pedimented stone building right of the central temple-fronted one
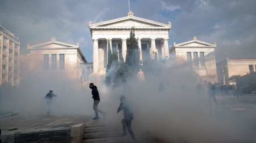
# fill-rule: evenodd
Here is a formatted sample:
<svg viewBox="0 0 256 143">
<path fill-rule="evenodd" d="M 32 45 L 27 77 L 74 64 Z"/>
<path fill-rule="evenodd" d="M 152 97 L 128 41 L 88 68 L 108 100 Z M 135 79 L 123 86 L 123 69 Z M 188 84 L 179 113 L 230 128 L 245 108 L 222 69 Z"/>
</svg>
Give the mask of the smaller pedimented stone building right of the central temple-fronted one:
<svg viewBox="0 0 256 143">
<path fill-rule="evenodd" d="M 177 64 L 188 63 L 194 72 L 198 74 L 200 82 L 218 82 L 216 73 L 215 44 L 198 41 L 196 37 L 192 41 L 176 44 L 169 50 Z"/>
</svg>

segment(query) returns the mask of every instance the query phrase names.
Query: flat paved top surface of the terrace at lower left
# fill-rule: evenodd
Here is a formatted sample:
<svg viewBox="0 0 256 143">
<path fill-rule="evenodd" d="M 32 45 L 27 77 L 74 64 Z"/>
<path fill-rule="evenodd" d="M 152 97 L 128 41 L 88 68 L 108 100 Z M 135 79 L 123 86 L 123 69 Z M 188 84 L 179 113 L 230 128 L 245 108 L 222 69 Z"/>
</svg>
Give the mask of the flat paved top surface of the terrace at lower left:
<svg viewBox="0 0 256 143">
<path fill-rule="evenodd" d="M 2 135 L 30 131 L 69 129 L 74 124 L 86 123 L 90 116 L 33 116 L 17 114 L 0 118 Z"/>
</svg>

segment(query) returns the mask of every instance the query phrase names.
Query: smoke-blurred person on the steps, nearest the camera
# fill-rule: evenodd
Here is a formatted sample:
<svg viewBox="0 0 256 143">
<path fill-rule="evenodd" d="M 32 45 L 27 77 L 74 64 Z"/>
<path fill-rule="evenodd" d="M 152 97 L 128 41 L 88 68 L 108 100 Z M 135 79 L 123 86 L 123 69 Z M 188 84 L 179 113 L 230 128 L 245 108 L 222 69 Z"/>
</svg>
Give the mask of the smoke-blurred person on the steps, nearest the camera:
<svg viewBox="0 0 256 143">
<path fill-rule="evenodd" d="M 130 135 L 131 135 L 131 138 L 133 138 L 133 142 L 137 142 L 136 140 L 136 137 L 133 133 L 133 130 L 131 130 L 131 120 L 133 120 L 133 107 L 134 107 L 134 103 L 133 102 L 130 102 L 126 99 L 125 96 L 121 96 L 120 97 L 120 105 L 118 107 L 118 112 L 122 111 L 123 110 L 123 115 L 125 116 L 125 118 L 122 119 L 122 124 L 123 124 L 123 135 L 126 135 L 126 127 L 127 127 L 127 130 L 129 131 Z"/>
</svg>

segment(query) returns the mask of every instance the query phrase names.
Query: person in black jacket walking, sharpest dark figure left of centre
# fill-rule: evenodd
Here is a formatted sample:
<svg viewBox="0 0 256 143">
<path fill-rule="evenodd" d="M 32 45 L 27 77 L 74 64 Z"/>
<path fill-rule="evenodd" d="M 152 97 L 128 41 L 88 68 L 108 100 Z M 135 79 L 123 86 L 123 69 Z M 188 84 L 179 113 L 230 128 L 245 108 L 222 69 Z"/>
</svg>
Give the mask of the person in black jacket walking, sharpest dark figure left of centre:
<svg viewBox="0 0 256 143">
<path fill-rule="evenodd" d="M 99 104 L 99 101 L 101 101 L 101 99 L 99 98 L 99 92 L 97 90 L 97 86 L 94 86 L 93 83 L 90 83 L 89 84 L 89 87 L 91 89 L 91 94 L 93 94 L 93 109 L 94 109 L 94 112 L 95 112 L 95 118 L 93 118 L 94 120 L 98 120 L 99 119 L 99 115 L 98 115 L 98 112 L 99 113 L 102 113 L 102 115 L 104 116 L 104 119 L 106 118 L 106 113 L 101 111 L 100 109 L 98 109 L 98 104 Z"/>
</svg>

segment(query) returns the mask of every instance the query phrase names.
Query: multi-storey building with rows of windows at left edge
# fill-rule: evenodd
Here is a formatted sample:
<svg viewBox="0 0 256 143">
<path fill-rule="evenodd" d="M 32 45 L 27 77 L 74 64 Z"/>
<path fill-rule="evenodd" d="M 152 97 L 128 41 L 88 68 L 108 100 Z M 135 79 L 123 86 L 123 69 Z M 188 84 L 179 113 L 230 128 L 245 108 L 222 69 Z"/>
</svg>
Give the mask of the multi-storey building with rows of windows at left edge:
<svg viewBox="0 0 256 143">
<path fill-rule="evenodd" d="M 0 26 L 0 85 L 19 86 L 20 42 L 14 34 Z"/>
</svg>

